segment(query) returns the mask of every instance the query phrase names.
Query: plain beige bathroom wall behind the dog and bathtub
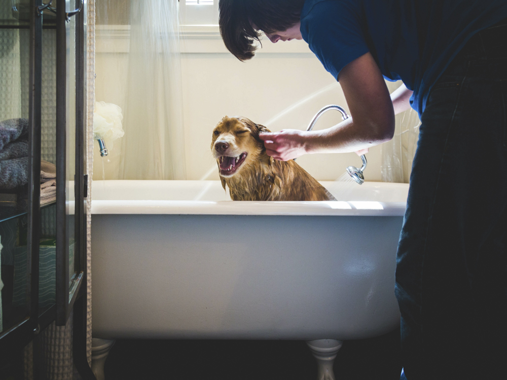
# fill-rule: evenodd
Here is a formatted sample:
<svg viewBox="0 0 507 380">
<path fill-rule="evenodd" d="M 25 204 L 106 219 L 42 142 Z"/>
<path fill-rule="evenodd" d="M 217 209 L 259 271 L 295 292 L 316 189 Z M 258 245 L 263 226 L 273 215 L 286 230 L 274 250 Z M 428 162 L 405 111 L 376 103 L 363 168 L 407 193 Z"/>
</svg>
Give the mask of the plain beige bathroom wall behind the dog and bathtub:
<svg viewBox="0 0 507 380">
<path fill-rule="evenodd" d="M 98 26 L 96 37 L 95 98 L 123 108 L 128 68 L 128 27 Z M 213 127 L 225 116 L 241 115 L 272 131 L 286 128 L 305 130 L 324 105 L 339 104 L 348 109 L 340 85 L 324 70 L 304 41 L 266 40 L 263 49 L 248 62 L 240 62 L 224 47 L 218 30 L 187 29 L 182 40 L 187 179 L 218 179 L 211 156 Z M 389 84 L 390 89 L 396 84 Z M 316 129 L 335 125 L 340 113 L 329 111 Z M 146 126 L 140 126 L 145 128 Z M 95 149 L 94 179 L 102 179 L 102 165 Z M 106 178 L 118 165 L 114 149 L 104 165 Z M 367 180 L 380 180 L 381 147 L 367 155 Z M 360 166 L 354 153 L 307 155 L 298 159 L 318 180 L 334 180 L 349 165 Z"/>
</svg>

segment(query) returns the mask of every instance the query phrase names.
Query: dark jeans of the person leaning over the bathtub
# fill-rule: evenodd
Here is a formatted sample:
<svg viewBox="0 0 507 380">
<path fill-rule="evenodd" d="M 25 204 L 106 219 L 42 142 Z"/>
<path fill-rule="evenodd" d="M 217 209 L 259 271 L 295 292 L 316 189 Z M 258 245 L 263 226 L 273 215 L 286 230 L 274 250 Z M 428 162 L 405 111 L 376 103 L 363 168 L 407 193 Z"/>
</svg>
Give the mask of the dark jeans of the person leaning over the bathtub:
<svg viewBox="0 0 507 380">
<path fill-rule="evenodd" d="M 507 20 L 472 37 L 421 122 L 396 267 L 405 374 L 507 378 Z"/>
</svg>

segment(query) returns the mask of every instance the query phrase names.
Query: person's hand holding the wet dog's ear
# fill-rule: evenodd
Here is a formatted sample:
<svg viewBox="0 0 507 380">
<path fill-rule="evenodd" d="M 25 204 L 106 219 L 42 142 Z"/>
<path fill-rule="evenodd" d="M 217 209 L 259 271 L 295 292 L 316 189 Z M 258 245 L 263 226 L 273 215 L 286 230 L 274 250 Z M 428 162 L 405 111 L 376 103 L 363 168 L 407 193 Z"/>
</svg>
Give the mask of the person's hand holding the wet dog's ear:
<svg viewBox="0 0 507 380">
<path fill-rule="evenodd" d="M 306 154 L 306 132 L 297 129 L 284 129 L 280 132 L 261 133 L 266 154 L 275 160 L 288 161 Z"/>
</svg>

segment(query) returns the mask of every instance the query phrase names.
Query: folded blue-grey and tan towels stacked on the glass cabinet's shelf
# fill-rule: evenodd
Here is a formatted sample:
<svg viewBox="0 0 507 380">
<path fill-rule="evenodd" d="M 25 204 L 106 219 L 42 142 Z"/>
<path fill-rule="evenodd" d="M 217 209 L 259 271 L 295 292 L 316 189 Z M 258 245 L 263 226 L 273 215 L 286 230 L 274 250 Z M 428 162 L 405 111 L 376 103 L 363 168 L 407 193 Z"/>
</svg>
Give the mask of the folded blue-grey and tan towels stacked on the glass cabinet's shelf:
<svg viewBox="0 0 507 380">
<path fill-rule="evenodd" d="M 0 192 L 18 193 L 28 183 L 28 120 L 0 122 Z M 41 204 L 56 200 L 56 166 L 41 161 Z"/>
</svg>

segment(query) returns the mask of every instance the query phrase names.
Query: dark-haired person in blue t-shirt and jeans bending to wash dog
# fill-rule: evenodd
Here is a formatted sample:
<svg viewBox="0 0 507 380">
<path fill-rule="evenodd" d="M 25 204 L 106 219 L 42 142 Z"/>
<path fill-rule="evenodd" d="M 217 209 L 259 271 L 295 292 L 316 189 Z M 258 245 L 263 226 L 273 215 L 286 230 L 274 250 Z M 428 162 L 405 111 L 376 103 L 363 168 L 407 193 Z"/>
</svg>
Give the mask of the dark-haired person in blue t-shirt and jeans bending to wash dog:
<svg viewBox="0 0 507 380">
<path fill-rule="evenodd" d="M 335 127 L 262 134 L 273 158 L 362 154 L 392 138 L 396 113 L 419 113 L 396 255 L 404 372 L 504 377 L 507 1 L 220 0 L 219 8 L 238 59 L 253 57 L 261 31 L 273 43 L 304 40 L 345 94 L 351 118 Z M 384 80 L 404 85 L 389 95 Z"/>
</svg>

